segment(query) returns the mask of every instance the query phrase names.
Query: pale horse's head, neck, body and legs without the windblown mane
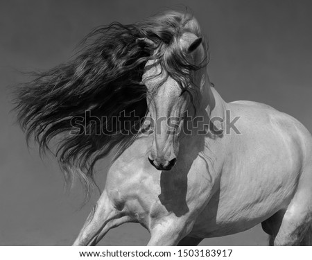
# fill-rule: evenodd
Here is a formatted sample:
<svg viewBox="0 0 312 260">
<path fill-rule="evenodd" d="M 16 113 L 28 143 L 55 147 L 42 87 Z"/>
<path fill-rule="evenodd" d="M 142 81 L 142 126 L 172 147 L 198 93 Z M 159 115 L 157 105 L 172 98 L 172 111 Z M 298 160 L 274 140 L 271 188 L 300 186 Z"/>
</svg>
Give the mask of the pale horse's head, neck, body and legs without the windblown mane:
<svg viewBox="0 0 312 260">
<path fill-rule="evenodd" d="M 223 101 L 209 82 L 207 44 L 191 15 L 165 12 L 138 26 L 151 21 L 158 37 L 135 42 L 152 51 L 140 76 L 150 116 L 142 125 L 159 129 L 138 134 L 112 162 L 73 245 L 96 245 L 127 222 L 148 229 L 148 245 L 198 245 L 259 223 L 270 245 L 312 245 L 309 131 L 268 105 Z M 186 112 L 197 119 L 187 122 Z"/>
</svg>

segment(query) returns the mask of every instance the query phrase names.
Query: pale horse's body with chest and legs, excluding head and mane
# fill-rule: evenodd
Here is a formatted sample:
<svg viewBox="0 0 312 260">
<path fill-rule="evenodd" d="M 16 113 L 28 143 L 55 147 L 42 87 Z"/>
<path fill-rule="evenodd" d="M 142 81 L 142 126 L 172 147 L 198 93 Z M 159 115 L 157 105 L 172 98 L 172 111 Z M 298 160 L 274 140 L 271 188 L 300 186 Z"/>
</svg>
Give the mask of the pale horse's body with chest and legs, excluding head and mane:
<svg viewBox="0 0 312 260">
<path fill-rule="evenodd" d="M 200 137 L 195 139 L 197 144 L 193 137 L 182 138 L 180 163 L 170 172 L 157 171 L 147 162 L 152 138 L 137 139 L 107 175 L 102 196 L 107 198 L 105 208 L 112 205 L 114 209 L 116 218 L 112 222 L 122 219 L 141 223 L 152 234 L 150 245 L 176 245 L 185 236 L 204 239 L 235 234 L 278 212 L 283 212 L 283 217 L 276 228 L 284 212 L 292 217 L 290 223 L 304 216 L 304 224 L 309 225 L 309 132 L 291 116 L 268 105 L 225 103 L 213 88 L 211 94 L 218 99 L 211 115 L 224 116 L 225 110 L 240 115 L 236 127 L 241 135 L 232 132 L 216 139 Z M 302 183 L 305 181 L 309 184 Z M 103 223 L 103 212 L 95 211 L 93 219 L 98 219 L 96 214 Z M 88 227 L 94 227 L 94 223 L 83 231 Z M 89 241 L 81 233 L 76 243 L 95 243 L 108 231 L 103 226 L 101 229 L 104 232 L 96 230 Z M 281 234 L 286 231 L 281 230 Z M 171 236 L 175 233 L 176 237 Z M 270 232 L 272 236 L 278 233 L 278 228 Z M 153 241 L 153 234 L 162 239 Z"/>
</svg>

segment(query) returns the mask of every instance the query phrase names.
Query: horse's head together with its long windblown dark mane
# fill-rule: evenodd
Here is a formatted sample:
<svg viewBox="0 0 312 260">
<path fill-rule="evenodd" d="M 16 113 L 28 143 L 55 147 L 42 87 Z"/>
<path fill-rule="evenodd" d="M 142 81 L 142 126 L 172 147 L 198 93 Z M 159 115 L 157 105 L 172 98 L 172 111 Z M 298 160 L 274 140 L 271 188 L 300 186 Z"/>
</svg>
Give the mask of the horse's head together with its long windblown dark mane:
<svg viewBox="0 0 312 260">
<path fill-rule="evenodd" d="M 117 159 L 150 114 L 156 129 L 148 159 L 170 170 L 181 116 L 198 101 L 193 90 L 205 67 L 207 46 L 196 19 L 170 10 L 135 24 L 114 22 L 89 33 L 80 48 L 73 59 L 17 86 L 15 110 L 26 137 L 44 151 L 64 134 L 55 155 L 67 182 L 78 176 L 88 196 L 96 162 L 112 150 Z"/>
</svg>

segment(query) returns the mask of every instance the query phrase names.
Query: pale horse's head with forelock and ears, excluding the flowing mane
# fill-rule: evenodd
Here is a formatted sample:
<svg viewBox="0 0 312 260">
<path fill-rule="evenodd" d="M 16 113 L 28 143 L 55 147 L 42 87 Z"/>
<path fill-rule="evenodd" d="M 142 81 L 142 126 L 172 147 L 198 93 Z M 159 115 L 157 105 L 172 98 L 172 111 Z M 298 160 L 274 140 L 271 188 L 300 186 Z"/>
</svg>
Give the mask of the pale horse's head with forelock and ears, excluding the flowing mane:
<svg viewBox="0 0 312 260">
<path fill-rule="evenodd" d="M 146 44 L 156 45 L 150 40 L 144 41 Z M 148 160 L 161 171 L 170 171 L 177 161 L 183 115 L 192 105 L 191 93 L 198 90 L 195 84 L 198 74 L 192 67 L 198 67 L 205 55 L 202 37 L 193 33 L 183 33 L 172 45 L 164 51 L 162 62 L 158 59 L 146 62 L 142 76 L 142 83 L 147 89 L 149 120 L 153 128 L 153 144 Z M 178 67 L 176 64 L 179 63 L 168 62 L 169 59 L 166 62 L 166 56 L 179 53 L 175 49 L 180 51 L 177 58 L 182 58 L 182 63 L 187 66 Z M 157 56 L 157 52 L 159 49 L 155 46 L 153 56 Z"/>
</svg>

